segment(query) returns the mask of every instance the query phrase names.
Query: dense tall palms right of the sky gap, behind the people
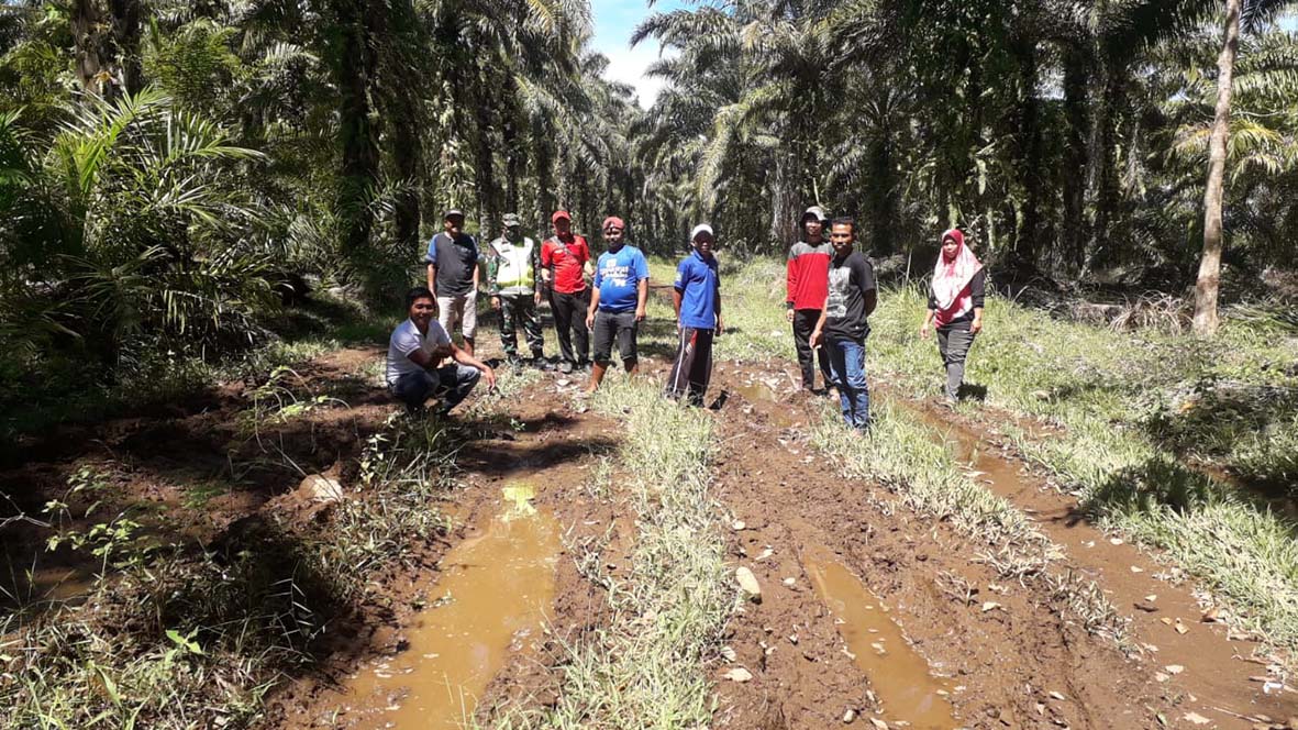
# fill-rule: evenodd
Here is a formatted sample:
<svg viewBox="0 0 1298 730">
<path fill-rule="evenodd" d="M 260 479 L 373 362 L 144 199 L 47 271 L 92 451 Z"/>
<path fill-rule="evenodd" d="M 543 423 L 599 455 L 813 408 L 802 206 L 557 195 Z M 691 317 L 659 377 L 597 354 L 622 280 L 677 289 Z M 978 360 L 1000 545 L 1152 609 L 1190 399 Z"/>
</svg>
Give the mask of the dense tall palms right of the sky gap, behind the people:
<svg viewBox="0 0 1298 730">
<path fill-rule="evenodd" d="M 1298 151 L 1298 38 L 1272 22 L 1284 4 L 1245 5 L 1218 166 L 1238 279 L 1292 249 Z M 641 161 L 750 248 L 778 249 L 815 200 L 866 221 L 876 256 L 962 225 L 1014 275 L 1180 288 L 1205 242 L 1224 18 L 1140 0 L 662 13 L 637 31 L 678 51 Z"/>
</svg>

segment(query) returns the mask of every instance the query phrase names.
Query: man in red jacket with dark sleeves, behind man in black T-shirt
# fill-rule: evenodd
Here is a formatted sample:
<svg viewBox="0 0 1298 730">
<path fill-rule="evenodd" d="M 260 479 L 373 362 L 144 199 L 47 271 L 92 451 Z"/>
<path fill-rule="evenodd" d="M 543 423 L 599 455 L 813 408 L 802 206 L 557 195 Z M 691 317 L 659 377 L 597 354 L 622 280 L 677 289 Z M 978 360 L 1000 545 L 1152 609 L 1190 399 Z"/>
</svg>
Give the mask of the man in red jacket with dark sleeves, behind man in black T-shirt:
<svg viewBox="0 0 1298 730">
<path fill-rule="evenodd" d="M 785 282 L 788 292 L 784 301 L 785 317 L 793 323 L 793 343 L 798 351 L 798 365 L 802 368 L 802 388 L 811 392 L 816 390 L 810 338 L 829 291 L 829 258 L 833 257 L 833 247 L 824 238 L 827 220 L 828 216 L 819 205 L 813 205 L 802 213 L 803 238 L 789 247 Z M 815 348 L 814 357 L 819 360 L 826 390 L 837 387 L 824 346 Z"/>
</svg>

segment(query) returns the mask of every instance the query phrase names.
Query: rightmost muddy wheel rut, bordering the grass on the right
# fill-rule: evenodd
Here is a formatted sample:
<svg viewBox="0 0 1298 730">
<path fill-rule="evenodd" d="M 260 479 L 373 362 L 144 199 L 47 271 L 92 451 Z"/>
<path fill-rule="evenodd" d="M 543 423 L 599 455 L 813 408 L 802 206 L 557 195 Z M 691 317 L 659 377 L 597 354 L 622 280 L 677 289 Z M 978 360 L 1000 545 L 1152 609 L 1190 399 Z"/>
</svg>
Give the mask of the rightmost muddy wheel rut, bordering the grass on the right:
<svg viewBox="0 0 1298 730">
<path fill-rule="evenodd" d="M 1255 681 L 1267 674 L 1251 659 L 1258 643 L 1221 622 L 1206 620 L 1205 608 L 1179 572 L 1157 562 L 1137 547 L 1093 526 L 1077 500 L 1050 487 L 963 420 L 910 401 L 893 399 L 932 427 L 972 479 L 1025 512 L 1045 534 L 1067 549 L 1066 565 L 1098 583 L 1119 613 L 1131 618 L 1131 633 L 1146 672 L 1168 692 L 1182 692 L 1177 717 L 1193 709 L 1223 727 L 1251 727 L 1258 716 L 1289 718 L 1298 713 L 1298 695 L 1266 692 Z"/>
</svg>

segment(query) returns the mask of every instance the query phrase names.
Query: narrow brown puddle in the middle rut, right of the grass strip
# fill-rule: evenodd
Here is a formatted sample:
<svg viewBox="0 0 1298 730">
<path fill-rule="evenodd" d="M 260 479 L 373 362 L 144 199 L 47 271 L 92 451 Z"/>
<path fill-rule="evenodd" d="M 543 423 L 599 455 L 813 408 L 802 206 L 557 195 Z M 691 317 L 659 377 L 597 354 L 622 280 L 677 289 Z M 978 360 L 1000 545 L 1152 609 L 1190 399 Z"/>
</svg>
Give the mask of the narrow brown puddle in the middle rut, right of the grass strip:
<svg viewBox="0 0 1298 730">
<path fill-rule="evenodd" d="M 906 642 L 888 607 L 828 549 L 813 547 L 802 556 L 820 600 L 829 607 L 889 722 L 912 730 L 959 726 L 946 696 L 949 688 L 929 673 L 928 662 Z"/>
</svg>

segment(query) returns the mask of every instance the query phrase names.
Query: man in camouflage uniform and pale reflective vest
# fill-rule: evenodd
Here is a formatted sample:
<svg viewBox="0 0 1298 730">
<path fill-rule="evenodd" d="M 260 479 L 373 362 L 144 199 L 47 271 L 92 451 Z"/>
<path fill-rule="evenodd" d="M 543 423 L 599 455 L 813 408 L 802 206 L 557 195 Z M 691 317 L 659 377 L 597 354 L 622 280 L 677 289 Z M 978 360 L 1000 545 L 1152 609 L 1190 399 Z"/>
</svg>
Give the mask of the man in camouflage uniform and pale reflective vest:
<svg viewBox="0 0 1298 730">
<path fill-rule="evenodd" d="M 500 343 L 505 359 L 519 364 L 518 325 L 522 323 L 527 347 L 532 351 L 532 365 L 544 369 L 545 338 L 541 335 L 541 317 L 536 308 L 541 304 L 541 249 L 536 242 L 519 230 L 518 214 L 506 213 L 505 231 L 487 244 L 487 292 L 492 309 L 500 312 Z"/>
</svg>

